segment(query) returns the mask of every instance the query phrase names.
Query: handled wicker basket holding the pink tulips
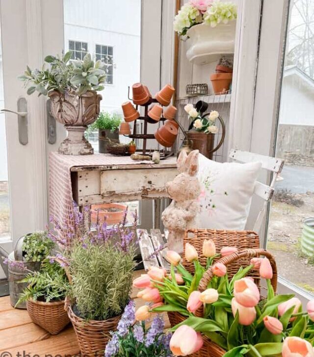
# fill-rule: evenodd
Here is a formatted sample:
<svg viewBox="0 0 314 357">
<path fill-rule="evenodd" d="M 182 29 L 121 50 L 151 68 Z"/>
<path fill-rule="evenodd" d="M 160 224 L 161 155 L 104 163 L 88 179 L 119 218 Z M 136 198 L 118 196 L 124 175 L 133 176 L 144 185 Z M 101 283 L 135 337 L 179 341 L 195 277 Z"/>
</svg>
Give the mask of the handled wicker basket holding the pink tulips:
<svg viewBox="0 0 314 357">
<path fill-rule="evenodd" d="M 194 232 L 197 233 L 199 231 L 199 229 L 195 229 L 189 232 Z M 203 233 L 206 230 L 201 230 Z M 206 237 L 203 237 L 202 243 L 198 242 L 197 240 L 195 242 L 193 242 L 193 239 L 197 239 L 196 237 L 193 238 L 187 238 L 188 234 L 186 234 L 186 237 L 184 238 L 184 246 L 186 242 L 189 242 L 191 244 L 194 245 L 194 247 L 198 250 L 198 252 L 200 253 L 200 256 L 202 255 L 202 246 L 203 246 L 203 241 L 204 239 L 213 239 L 214 237 L 217 239 L 219 237 L 219 233 L 218 235 L 216 234 L 217 231 L 212 230 L 212 231 L 208 231 L 209 234 L 206 234 Z M 219 232 L 219 231 L 218 231 Z M 221 231 L 223 232 L 223 231 Z M 227 232 L 227 231 L 224 231 Z M 188 232 L 187 232 L 188 233 Z M 237 232 L 239 233 L 239 232 Z M 242 232 L 243 233 L 243 232 Z M 249 234 L 253 234 L 253 237 L 256 239 L 258 239 L 258 236 L 256 233 L 254 232 L 249 232 Z M 243 237 L 247 237 L 247 235 L 243 234 Z M 253 239 L 254 239 L 253 238 Z M 215 239 L 213 239 L 215 240 Z M 221 244 L 222 243 L 222 244 Z M 217 251 L 219 252 L 220 249 L 223 246 L 237 246 L 237 244 L 240 243 L 239 241 L 235 241 L 235 240 L 230 240 L 230 237 L 228 237 L 228 235 L 225 235 L 224 241 L 221 242 L 220 240 L 215 241 L 216 244 L 216 248 Z M 252 241 L 252 243 L 256 244 L 256 240 Z M 247 244 L 247 243 L 244 243 Z M 224 256 L 222 258 L 220 258 L 218 261 L 225 264 L 228 268 L 228 277 L 229 279 L 231 279 L 233 277 L 233 275 L 238 271 L 238 269 L 240 268 L 240 266 L 246 267 L 250 264 L 250 259 L 252 257 L 259 257 L 259 256 L 266 256 L 269 261 L 270 264 L 272 266 L 273 269 L 273 278 L 271 280 L 271 284 L 274 288 L 274 291 L 276 292 L 277 290 L 277 267 L 276 267 L 276 262 L 274 257 L 267 251 L 265 251 L 264 249 L 260 249 L 260 248 L 256 248 L 256 249 L 244 249 L 244 250 L 240 250 L 234 254 L 231 255 L 227 255 Z M 200 259 L 202 262 L 202 258 Z M 184 263 L 183 265 L 185 266 L 186 269 L 188 269 L 190 272 L 193 272 L 193 269 L 191 268 L 191 265 L 185 264 L 186 260 L 184 259 Z M 203 262 L 203 265 L 206 265 L 206 263 Z M 259 277 L 259 272 L 252 270 L 250 271 L 250 276 L 252 278 L 254 278 L 255 283 L 260 286 L 260 277 Z M 207 289 L 207 286 L 210 282 L 210 280 L 213 277 L 213 273 L 211 270 L 211 267 L 209 267 L 209 269 L 204 273 L 203 278 L 201 279 L 199 286 L 198 286 L 198 290 L 199 291 L 204 291 Z M 196 314 L 197 316 L 202 316 L 202 308 L 200 311 L 197 311 Z M 169 321 L 171 326 L 175 326 L 181 322 L 183 322 L 186 317 L 181 315 L 178 312 L 168 312 L 168 317 L 169 317 Z M 222 357 L 227 351 L 225 351 L 223 348 L 221 348 L 220 346 L 218 346 L 217 344 L 215 344 L 214 342 L 210 341 L 208 337 L 204 336 L 204 345 L 203 347 L 196 353 L 190 355 L 192 357 Z"/>
</svg>

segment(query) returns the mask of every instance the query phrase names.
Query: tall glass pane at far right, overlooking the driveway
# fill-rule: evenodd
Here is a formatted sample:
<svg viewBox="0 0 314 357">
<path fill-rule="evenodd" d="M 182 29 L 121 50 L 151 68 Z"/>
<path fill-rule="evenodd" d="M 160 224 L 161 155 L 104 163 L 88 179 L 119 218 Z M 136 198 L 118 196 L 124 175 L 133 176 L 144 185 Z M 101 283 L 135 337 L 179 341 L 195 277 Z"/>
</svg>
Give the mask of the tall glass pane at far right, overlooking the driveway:
<svg viewBox="0 0 314 357">
<path fill-rule="evenodd" d="M 275 185 L 267 249 L 282 277 L 314 292 L 314 233 L 311 250 L 303 223 L 314 217 L 314 3 L 291 2 L 276 145 L 285 166 Z"/>
</svg>

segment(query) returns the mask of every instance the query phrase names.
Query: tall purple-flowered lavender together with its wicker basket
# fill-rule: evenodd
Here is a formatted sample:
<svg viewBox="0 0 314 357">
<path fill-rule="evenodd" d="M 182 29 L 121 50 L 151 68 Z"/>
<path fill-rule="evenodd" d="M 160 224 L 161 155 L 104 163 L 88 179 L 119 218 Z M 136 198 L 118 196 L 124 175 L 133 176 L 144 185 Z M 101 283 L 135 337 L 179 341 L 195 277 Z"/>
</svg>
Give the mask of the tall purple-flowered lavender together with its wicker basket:
<svg viewBox="0 0 314 357">
<path fill-rule="evenodd" d="M 126 211 L 120 224 L 110 229 L 97 224 L 96 231 L 90 231 L 85 229 L 86 219 L 90 212 L 77 212 L 73 222 L 62 229 L 57 226 L 51 237 L 64 251 L 56 260 L 65 266 L 70 281 L 65 306 L 78 346 L 82 355 L 95 356 L 105 350 L 109 332 L 116 329 L 130 301 L 137 220 L 126 227 Z"/>
</svg>

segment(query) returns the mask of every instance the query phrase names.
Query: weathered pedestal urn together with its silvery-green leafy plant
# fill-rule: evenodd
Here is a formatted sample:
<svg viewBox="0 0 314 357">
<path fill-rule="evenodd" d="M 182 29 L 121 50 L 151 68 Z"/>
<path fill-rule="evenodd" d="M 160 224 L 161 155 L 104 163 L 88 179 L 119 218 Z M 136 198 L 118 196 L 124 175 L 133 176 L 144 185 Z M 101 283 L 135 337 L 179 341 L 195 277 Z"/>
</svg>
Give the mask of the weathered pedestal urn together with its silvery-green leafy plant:
<svg viewBox="0 0 314 357">
<path fill-rule="evenodd" d="M 64 124 L 68 137 L 58 152 L 65 155 L 92 154 L 93 148 L 84 137 L 84 131 L 99 115 L 108 66 L 94 61 L 87 53 L 83 60 L 71 60 L 72 52 L 64 56 L 47 56 L 41 70 L 28 66 L 20 79 L 25 82 L 27 94 L 35 91 L 51 99 L 51 112 L 56 121 Z M 48 68 L 45 65 L 49 65 Z"/>
</svg>

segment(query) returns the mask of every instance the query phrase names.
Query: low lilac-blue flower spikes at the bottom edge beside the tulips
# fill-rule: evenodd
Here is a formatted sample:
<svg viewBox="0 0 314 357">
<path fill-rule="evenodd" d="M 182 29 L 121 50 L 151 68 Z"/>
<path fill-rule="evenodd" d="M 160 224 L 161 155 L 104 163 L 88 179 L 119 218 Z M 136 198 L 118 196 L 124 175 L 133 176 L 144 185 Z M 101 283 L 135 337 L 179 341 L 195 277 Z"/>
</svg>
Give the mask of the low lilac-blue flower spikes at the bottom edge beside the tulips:
<svg viewBox="0 0 314 357">
<path fill-rule="evenodd" d="M 170 357 L 171 333 L 165 333 L 164 321 L 157 315 L 150 328 L 145 321 L 135 322 L 135 305 L 130 301 L 119 321 L 118 329 L 106 346 L 105 357 Z"/>
</svg>

